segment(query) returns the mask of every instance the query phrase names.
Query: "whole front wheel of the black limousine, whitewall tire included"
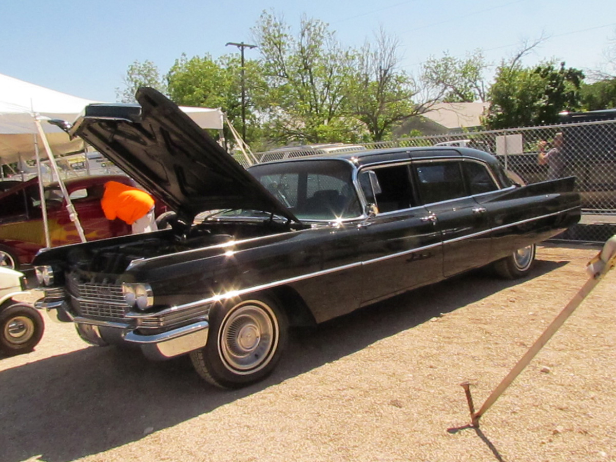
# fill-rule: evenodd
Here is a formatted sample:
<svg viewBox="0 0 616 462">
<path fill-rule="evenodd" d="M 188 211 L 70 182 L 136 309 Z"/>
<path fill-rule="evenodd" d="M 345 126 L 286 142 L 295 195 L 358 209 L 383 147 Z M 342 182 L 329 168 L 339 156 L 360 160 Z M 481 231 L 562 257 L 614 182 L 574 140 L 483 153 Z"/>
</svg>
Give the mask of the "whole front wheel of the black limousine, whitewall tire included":
<svg viewBox="0 0 616 462">
<path fill-rule="evenodd" d="M 208 342 L 190 354 L 209 383 L 238 388 L 274 370 L 288 338 L 286 315 L 269 296 L 235 300 L 213 309 Z"/>
</svg>

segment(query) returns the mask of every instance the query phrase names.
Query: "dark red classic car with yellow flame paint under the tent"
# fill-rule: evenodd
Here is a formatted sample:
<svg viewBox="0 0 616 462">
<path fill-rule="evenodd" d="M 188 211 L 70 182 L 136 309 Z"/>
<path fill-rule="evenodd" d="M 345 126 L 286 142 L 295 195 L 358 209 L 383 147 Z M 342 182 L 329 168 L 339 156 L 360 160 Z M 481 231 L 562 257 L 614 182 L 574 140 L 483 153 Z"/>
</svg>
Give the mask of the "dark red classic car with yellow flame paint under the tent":
<svg viewBox="0 0 616 462">
<path fill-rule="evenodd" d="M 88 241 L 131 233 L 130 225 L 118 219 L 109 221 L 100 207 L 101 186 L 110 180 L 136 186 L 132 179 L 123 175 L 79 177 L 64 182 Z M 79 242 L 60 185 L 57 182 L 49 184 L 44 191 L 51 245 Z M 157 208 L 160 211 L 161 206 Z M 45 246 L 38 178 L 0 192 L 0 266 L 24 269 Z"/>
</svg>

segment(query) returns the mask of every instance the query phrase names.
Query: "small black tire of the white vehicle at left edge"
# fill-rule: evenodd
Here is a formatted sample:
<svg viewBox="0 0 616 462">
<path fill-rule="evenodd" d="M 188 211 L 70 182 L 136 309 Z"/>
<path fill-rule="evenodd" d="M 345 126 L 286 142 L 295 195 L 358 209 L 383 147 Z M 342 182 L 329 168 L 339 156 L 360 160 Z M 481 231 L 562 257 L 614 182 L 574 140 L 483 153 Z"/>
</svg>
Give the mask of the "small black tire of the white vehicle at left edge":
<svg viewBox="0 0 616 462">
<path fill-rule="evenodd" d="M 8 302 L 0 307 L 0 352 L 7 356 L 27 353 L 41 341 L 43 317 L 25 303 Z"/>
</svg>

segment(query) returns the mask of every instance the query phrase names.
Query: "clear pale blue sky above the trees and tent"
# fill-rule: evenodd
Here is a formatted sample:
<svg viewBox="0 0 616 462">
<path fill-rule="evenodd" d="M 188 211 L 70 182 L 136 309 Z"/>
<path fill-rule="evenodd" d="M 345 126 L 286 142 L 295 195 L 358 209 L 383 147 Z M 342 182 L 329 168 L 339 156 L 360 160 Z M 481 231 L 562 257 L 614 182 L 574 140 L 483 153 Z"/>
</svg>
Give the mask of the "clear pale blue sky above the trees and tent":
<svg viewBox="0 0 616 462">
<path fill-rule="evenodd" d="M 2 0 L 0 73 L 113 101 L 134 60 L 150 60 L 166 73 L 182 53 L 237 52 L 225 43 L 251 43 L 263 10 L 282 15 L 294 30 L 302 14 L 323 20 L 347 46 L 359 47 L 383 26 L 399 39 L 403 68 L 413 74 L 444 51 L 464 57 L 479 48 L 498 63 L 542 33 L 549 38 L 525 64 L 556 58 L 594 69 L 616 38 L 616 0 Z"/>
</svg>

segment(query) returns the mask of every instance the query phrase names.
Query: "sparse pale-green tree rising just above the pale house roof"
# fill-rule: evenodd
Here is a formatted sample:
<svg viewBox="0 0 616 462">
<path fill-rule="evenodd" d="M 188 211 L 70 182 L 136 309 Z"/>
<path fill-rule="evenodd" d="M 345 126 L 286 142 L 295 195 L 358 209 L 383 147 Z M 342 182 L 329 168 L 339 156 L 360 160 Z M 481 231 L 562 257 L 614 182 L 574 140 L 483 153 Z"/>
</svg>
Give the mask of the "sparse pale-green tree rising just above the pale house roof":
<svg viewBox="0 0 616 462">
<path fill-rule="evenodd" d="M 429 57 L 423 65 L 422 80 L 442 94 L 444 102 L 485 101 L 484 72 L 487 68 L 480 50 L 460 59 L 447 52 Z"/>
</svg>

